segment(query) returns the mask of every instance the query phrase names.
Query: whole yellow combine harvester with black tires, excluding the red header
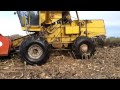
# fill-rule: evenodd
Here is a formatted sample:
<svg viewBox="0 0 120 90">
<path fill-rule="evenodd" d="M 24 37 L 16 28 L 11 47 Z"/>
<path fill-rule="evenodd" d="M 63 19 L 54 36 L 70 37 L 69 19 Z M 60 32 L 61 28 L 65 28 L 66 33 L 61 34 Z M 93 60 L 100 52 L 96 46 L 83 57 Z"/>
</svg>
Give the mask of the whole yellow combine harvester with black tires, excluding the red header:
<svg viewBox="0 0 120 90">
<path fill-rule="evenodd" d="M 95 52 L 95 41 L 105 38 L 103 20 L 72 21 L 69 11 L 17 11 L 22 30 L 34 32 L 13 41 L 20 46 L 22 60 L 29 64 L 43 64 L 51 51 L 71 50 L 77 58 L 89 58 Z"/>
</svg>

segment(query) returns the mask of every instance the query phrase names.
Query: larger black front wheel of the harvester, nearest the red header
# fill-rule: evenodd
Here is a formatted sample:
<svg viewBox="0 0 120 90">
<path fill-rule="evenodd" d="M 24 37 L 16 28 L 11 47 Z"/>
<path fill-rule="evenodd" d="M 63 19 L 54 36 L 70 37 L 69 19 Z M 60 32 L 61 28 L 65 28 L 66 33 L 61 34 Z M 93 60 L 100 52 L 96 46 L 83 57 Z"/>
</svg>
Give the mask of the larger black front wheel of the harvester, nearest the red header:
<svg viewBox="0 0 120 90">
<path fill-rule="evenodd" d="M 40 37 L 28 37 L 21 43 L 20 57 L 31 65 L 42 65 L 49 57 L 49 44 Z"/>
</svg>

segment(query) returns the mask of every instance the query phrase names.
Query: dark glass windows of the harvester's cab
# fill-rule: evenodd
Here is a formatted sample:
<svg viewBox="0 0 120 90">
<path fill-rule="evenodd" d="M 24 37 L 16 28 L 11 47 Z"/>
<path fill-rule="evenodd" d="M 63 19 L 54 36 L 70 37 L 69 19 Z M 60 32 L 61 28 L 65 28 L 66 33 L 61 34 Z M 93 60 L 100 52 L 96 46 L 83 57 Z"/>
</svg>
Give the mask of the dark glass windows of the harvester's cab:
<svg viewBox="0 0 120 90">
<path fill-rule="evenodd" d="M 39 11 L 17 11 L 21 26 L 24 26 L 22 23 L 22 17 L 26 17 L 26 25 L 39 25 Z"/>
</svg>

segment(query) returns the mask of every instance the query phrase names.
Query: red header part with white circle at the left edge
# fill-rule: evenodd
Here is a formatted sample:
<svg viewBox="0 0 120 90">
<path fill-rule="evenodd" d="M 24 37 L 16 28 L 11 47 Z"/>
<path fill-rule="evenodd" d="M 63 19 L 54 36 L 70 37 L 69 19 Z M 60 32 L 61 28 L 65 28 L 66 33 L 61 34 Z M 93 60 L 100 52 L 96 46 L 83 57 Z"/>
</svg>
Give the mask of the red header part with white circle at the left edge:
<svg viewBox="0 0 120 90">
<path fill-rule="evenodd" d="M 0 34 L 0 56 L 8 56 L 11 45 L 11 40 Z"/>
</svg>

